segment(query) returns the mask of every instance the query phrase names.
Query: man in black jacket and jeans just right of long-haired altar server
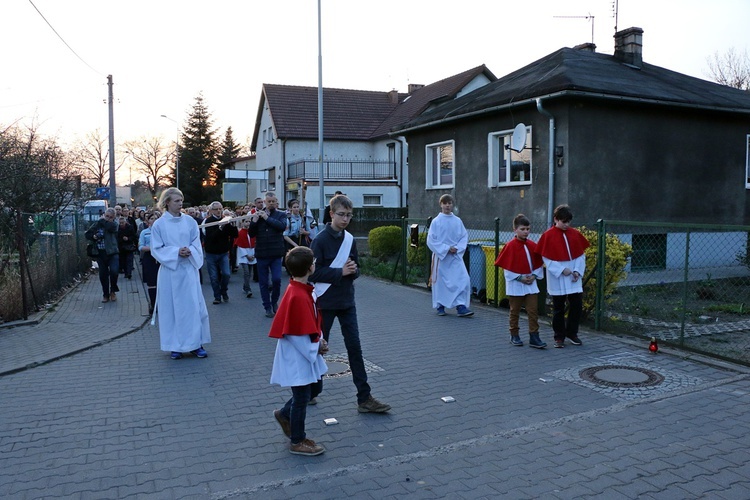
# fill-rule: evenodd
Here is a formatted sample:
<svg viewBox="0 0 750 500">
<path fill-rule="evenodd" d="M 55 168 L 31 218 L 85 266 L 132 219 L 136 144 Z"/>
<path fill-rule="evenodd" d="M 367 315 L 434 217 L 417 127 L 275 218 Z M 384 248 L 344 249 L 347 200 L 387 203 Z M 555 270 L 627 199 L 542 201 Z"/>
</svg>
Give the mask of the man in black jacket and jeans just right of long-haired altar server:
<svg viewBox="0 0 750 500">
<path fill-rule="evenodd" d="M 218 222 L 222 218 L 223 207 L 221 203 L 215 201 L 209 205 L 206 217 L 206 224 Z M 204 250 L 206 251 L 206 266 L 208 267 L 208 276 L 211 279 L 211 288 L 214 292 L 214 304 L 229 302 L 229 277 L 231 269 L 229 268 L 229 249 L 238 235 L 237 227 L 234 224 L 226 223 L 204 228 L 206 237 L 204 240 Z"/>
</svg>

